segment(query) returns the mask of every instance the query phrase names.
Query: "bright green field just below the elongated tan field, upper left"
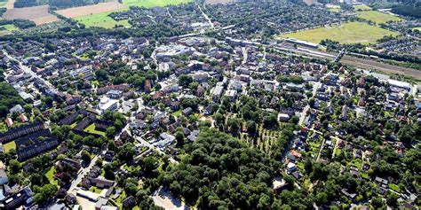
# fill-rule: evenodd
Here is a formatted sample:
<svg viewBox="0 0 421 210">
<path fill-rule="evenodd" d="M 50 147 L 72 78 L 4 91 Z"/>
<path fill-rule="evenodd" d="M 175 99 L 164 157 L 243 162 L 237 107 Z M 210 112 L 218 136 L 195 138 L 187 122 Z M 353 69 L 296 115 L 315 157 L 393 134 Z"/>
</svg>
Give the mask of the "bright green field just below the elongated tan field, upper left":
<svg viewBox="0 0 421 210">
<path fill-rule="evenodd" d="M 98 14 L 86 15 L 83 17 L 75 18 L 76 21 L 84 24 L 86 27 L 105 27 L 113 28 L 115 25 L 122 25 L 123 27 L 130 27 L 129 20 L 124 19 L 121 21 L 115 21 L 108 16 L 111 12 L 102 12 Z"/>
</svg>

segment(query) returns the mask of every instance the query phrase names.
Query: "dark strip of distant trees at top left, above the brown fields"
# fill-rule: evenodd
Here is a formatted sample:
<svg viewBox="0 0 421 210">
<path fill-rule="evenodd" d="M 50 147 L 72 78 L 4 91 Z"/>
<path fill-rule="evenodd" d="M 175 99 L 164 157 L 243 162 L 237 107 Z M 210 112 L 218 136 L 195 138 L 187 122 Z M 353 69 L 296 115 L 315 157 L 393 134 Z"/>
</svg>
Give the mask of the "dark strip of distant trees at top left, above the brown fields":
<svg viewBox="0 0 421 210">
<path fill-rule="evenodd" d="M 98 4 L 104 0 L 16 0 L 14 6 L 17 8 L 49 4 L 52 9 L 64 9 L 69 7 Z"/>
</svg>

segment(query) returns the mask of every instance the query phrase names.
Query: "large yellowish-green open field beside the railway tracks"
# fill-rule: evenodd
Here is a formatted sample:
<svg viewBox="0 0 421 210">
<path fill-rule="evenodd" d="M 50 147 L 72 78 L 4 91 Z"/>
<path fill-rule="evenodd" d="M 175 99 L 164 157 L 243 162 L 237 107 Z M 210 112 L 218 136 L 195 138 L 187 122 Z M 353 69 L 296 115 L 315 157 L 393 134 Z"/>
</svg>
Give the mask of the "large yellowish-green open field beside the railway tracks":
<svg viewBox="0 0 421 210">
<path fill-rule="evenodd" d="M 398 35 L 398 33 L 384 28 L 370 26 L 362 22 L 349 22 L 335 27 L 318 27 L 298 31 L 295 33 L 280 35 L 304 40 L 310 43 L 320 43 L 324 39 L 330 39 L 339 43 L 375 43 L 377 39 L 385 35 Z"/>
</svg>

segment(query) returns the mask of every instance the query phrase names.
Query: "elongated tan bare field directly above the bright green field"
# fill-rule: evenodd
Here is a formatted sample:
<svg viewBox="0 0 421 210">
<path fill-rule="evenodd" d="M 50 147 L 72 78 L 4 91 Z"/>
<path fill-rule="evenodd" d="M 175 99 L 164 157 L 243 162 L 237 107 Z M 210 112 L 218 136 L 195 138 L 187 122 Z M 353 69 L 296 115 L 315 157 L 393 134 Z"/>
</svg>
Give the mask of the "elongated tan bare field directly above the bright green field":
<svg viewBox="0 0 421 210">
<path fill-rule="evenodd" d="M 115 2 L 99 3 L 94 5 L 79 6 L 57 11 L 60 15 L 66 18 L 77 18 L 91 14 L 98 14 L 102 12 L 114 12 L 126 9 L 127 5 L 117 4 Z"/>
</svg>

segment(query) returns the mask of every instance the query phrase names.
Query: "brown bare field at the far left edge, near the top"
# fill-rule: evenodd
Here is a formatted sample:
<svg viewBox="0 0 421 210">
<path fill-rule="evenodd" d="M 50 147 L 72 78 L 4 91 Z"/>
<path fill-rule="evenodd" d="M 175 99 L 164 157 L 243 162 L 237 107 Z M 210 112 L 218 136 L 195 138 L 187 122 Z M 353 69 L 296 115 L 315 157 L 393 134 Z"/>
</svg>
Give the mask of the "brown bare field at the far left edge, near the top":
<svg viewBox="0 0 421 210">
<path fill-rule="evenodd" d="M 4 19 L 30 19 L 36 23 L 36 25 L 43 25 L 45 23 L 51 23 L 59 20 L 55 15 L 48 12 L 49 6 L 33 6 L 25 8 L 15 8 L 7 10 L 3 18 Z"/>
</svg>

